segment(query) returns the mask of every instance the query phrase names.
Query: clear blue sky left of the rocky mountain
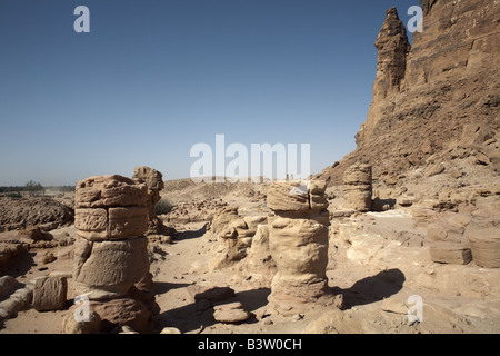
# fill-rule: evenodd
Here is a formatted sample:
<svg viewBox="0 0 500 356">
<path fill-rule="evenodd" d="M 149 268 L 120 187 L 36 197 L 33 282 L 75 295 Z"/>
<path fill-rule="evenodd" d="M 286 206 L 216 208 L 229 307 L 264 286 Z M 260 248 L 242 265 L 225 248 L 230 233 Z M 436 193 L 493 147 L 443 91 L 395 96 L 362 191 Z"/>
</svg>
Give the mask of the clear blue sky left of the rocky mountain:
<svg viewBox="0 0 500 356">
<path fill-rule="evenodd" d="M 76 33 L 77 6 L 90 33 Z M 190 148 L 311 144 L 319 172 L 356 148 L 386 10 L 418 0 L 1 0 L 0 185 L 73 185 Z"/>
</svg>

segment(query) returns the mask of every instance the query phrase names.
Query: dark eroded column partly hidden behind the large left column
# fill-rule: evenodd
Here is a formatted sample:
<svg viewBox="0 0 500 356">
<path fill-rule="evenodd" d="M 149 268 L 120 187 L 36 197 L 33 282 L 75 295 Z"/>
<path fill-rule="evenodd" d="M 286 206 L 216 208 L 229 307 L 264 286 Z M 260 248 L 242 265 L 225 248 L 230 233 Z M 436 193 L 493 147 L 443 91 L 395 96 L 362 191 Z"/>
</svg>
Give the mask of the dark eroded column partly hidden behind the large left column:
<svg viewBox="0 0 500 356">
<path fill-rule="evenodd" d="M 146 184 L 148 187 L 148 199 L 146 204 L 148 208 L 148 229 L 146 235 L 163 234 L 166 229 L 163 221 L 158 218 L 154 211 L 154 207 L 161 199 L 160 191 L 164 188 L 163 175 L 149 167 L 136 167 L 132 178 Z"/>
</svg>

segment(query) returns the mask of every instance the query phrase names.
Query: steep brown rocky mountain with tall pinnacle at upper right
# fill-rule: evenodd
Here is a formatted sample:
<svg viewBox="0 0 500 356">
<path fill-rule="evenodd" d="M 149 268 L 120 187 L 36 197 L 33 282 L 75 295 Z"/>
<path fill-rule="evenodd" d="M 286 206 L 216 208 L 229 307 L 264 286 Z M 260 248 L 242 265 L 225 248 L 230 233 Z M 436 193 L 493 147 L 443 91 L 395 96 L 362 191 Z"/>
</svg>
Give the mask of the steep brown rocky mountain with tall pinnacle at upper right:
<svg viewBox="0 0 500 356">
<path fill-rule="evenodd" d="M 396 185 L 410 171 L 432 169 L 498 178 L 500 170 L 500 3 L 422 0 L 423 31 L 407 30 L 396 8 L 376 40 L 377 78 L 357 149 L 320 175 L 341 185 L 353 164 Z M 479 169 L 479 171 L 477 171 Z M 470 181 L 466 184 L 477 184 Z"/>
</svg>

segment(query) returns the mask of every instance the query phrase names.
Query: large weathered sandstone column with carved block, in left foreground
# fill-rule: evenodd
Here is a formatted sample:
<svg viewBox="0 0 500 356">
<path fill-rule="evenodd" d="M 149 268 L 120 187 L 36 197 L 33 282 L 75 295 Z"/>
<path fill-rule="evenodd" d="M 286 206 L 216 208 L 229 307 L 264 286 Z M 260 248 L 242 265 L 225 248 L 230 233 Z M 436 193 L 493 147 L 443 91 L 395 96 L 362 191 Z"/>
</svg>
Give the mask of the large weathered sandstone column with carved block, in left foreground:
<svg viewBox="0 0 500 356">
<path fill-rule="evenodd" d="M 74 244 L 73 286 L 92 308 L 106 310 L 112 324 L 148 328 L 144 305 L 130 297 L 134 284 L 148 278 L 148 191 L 144 184 L 121 176 L 96 176 L 77 184 L 74 206 L 78 230 Z M 127 305 L 140 316 L 111 309 Z M 104 315 L 100 315 L 106 319 Z M 138 323 L 138 320 L 142 320 Z M 122 325 L 120 325 L 122 324 Z"/>
</svg>

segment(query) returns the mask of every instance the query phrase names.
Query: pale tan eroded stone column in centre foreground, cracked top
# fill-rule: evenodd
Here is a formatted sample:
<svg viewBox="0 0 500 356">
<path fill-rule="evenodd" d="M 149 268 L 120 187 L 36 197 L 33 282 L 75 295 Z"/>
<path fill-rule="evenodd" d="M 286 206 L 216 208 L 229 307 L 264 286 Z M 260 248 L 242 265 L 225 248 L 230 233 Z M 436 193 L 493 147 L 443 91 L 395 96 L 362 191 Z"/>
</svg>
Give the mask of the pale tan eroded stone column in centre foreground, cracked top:
<svg viewBox="0 0 500 356">
<path fill-rule="evenodd" d="M 333 304 L 326 275 L 329 216 L 324 190 L 324 181 L 312 181 L 309 188 L 274 182 L 268 190 L 268 207 L 276 214 L 269 225 L 269 248 L 278 269 L 268 299 L 281 314 Z"/>
</svg>

